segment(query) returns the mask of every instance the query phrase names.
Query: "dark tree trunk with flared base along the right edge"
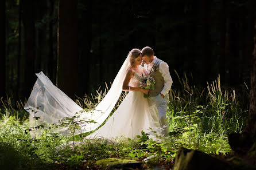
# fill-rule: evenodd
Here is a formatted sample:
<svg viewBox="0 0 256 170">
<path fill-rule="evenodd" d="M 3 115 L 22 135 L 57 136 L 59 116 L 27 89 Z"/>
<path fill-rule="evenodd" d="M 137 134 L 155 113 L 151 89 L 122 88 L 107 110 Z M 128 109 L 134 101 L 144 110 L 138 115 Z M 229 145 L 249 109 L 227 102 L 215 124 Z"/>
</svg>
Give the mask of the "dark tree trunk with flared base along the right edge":
<svg viewBox="0 0 256 170">
<path fill-rule="evenodd" d="M 256 2 L 250 0 L 248 3 L 249 9 L 249 29 L 251 32 L 248 35 L 251 35 L 251 38 L 248 40 L 254 45 L 251 46 L 250 53 L 250 62 L 251 62 L 251 89 L 250 89 L 250 108 L 249 116 L 247 118 L 247 123 L 245 128 L 243 128 L 243 133 L 231 133 L 228 135 L 228 140 L 230 147 L 233 151 L 243 156 L 247 155 L 250 152 L 250 149 L 253 148 L 253 145 L 256 143 Z M 251 44 L 249 43 L 249 44 Z M 253 156 L 253 157 L 251 157 Z M 251 160 L 255 160 L 255 154 L 250 155 Z"/>
</svg>

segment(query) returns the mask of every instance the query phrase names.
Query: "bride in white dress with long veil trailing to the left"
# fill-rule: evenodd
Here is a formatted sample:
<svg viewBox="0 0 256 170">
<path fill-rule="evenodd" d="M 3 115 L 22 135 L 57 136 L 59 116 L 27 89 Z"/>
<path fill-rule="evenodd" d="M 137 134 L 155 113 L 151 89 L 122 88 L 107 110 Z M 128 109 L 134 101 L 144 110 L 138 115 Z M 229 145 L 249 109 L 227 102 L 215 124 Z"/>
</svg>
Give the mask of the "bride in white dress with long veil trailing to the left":
<svg viewBox="0 0 256 170">
<path fill-rule="evenodd" d="M 79 114 L 79 117 L 77 117 L 79 121 L 77 122 L 80 123 L 80 128 L 75 131 L 75 135 L 94 131 L 103 124 L 113 110 L 122 90 L 125 90 L 129 93 L 118 109 L 104 125 L 88 137 L 134 138 L 141 134 L 141 131 L 158 131 L 160 129 L 158 115 L 152 110 L 150 112 L 148 100 L 143 97 L 143 93 L 147 94 L 149 90 L 139 87 L 139 78 L 142 74 L 148 76 L 141 63 L 141 51 L 139 49 L 131 50 L 110 90 L 99 105 L 91 111 L 84 110 L 72 101 L 71 98 L 53 85 L 44 73 L 36 74 L 37 81 L 28 102 L 24 106 L 30 113 L 30 126 L 36 125 L 36 117 L 40 117 L 41 123 L 59 124 L 59 121 L 63 118 L 72 118 Z M 64 135 L 70 135 L 67 127 L 59 128 L 58 131 Z"/>
</svg>

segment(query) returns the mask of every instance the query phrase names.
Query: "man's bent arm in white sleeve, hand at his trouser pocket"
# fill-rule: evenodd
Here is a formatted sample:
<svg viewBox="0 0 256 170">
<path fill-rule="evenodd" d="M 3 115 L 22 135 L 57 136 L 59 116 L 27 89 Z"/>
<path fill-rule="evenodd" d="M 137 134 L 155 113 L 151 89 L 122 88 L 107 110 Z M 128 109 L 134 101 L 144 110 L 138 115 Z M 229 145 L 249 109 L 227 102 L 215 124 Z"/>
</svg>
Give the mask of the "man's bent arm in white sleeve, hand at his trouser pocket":
<svg viewBox="0 0 256 170">
<path fill-rule="evenodd" d="M 172 77 L 170 77 L 169 66 L 166 62 L 161 62 L 159 65 L 159 72 L 164 78 L 164 88 L 162 88 L 161 96 L 164 97 L 172 87 Z"/>
</svg>

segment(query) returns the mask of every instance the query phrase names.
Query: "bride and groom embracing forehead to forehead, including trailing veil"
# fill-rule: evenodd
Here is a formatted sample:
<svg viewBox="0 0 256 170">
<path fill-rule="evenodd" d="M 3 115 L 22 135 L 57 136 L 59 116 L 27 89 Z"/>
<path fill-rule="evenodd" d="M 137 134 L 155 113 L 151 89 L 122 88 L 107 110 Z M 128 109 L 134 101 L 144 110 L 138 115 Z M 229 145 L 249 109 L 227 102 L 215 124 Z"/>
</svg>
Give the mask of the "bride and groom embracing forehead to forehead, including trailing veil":
<svg viewBox="0 0 256 170">
<path fill-rule="evenodd" d="M 143 76 L 153 78 L 155 83 L 152 90 L 141 88 Z M 36 84 L 24 107 L 30 113 L 31 120 L 37 116 L 42 122 L 52 124 L 57 123 L 61 118 L 72 117 L 80 113 L 80 120 L 94 120 L 96 123 L 87 121 L 86 126 L 80 128 L 76 134 L 90 132 L 103 124 L 113 110 L 122 90 L 125 90 L 129 93 L 118 109 L 104 125 L 88 137 L 134 138 L 136 135 L 140 135 L 141 131 L 149 134 L 156 131 L 159 133 L 158 135 L 168 136 L 167 94 L 173 81 L 166 62 L 154 56 L 153 49 L 148 46 L 142 50 L 133 49 L 129 52 L 110 90 L 90 112 L 80 108 L 53 85 L 44 73 L 38 73 L 37 77 Z M 144 94 L 147 94 L 148 97 L 145 97 Z M 35 109 L 37 109 L 37 115 L 34 114 Z M 66 130 L 63 128 L 59 132 L 64 133 Z"/>
</svg>

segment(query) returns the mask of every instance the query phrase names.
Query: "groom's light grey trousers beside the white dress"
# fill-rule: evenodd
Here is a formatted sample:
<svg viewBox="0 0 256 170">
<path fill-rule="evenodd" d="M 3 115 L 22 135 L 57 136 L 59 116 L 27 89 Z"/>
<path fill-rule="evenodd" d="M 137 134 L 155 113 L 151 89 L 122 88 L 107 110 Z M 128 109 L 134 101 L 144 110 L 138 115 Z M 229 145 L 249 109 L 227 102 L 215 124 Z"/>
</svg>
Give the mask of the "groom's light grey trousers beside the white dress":
<svg viewBox="0 0 256 170">
<path fill-rule="evenodd" d="M 169 133 L 169 124 L 166 118 L 166 112 L 167 112 L 167 95 L 165 95 L 164 98 L 162 98 L 161 94 L 158 94 L 154 97 L 149 97 L 149 109 L 150 112 L 158 113 L 158 120 L 161 126 L 161 133 L 163 136 L 168 137 Z"/>
</svg>

